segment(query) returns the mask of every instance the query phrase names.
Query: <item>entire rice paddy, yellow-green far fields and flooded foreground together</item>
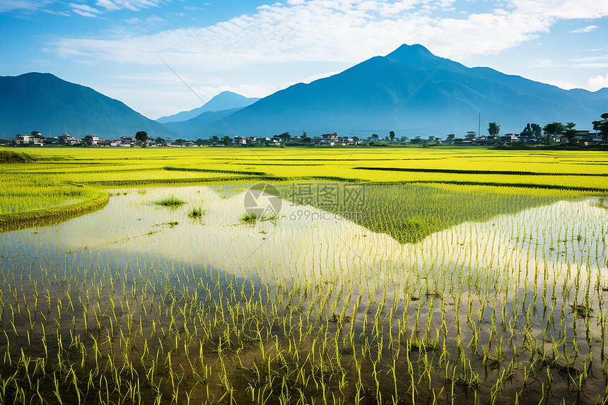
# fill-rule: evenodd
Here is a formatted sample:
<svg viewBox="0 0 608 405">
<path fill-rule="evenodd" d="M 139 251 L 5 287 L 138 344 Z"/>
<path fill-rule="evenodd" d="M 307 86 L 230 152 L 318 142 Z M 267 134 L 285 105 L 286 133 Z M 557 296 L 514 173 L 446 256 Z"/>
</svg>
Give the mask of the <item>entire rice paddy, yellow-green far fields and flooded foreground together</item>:
<svg viewBox="0 0 608 405">
<path fill-rule="evenodd" d="M 608 402 L 605 152 L 22 151 L 0 404 Z"/>
</svg>

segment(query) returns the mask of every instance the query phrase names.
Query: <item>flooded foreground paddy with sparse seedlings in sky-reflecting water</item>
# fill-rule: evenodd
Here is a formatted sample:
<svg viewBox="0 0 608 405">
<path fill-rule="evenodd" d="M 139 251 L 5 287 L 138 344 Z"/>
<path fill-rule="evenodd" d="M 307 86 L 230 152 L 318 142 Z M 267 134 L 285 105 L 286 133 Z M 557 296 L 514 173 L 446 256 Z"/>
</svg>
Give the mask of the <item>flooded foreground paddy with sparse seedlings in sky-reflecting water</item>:
<svg viewBox="0 0 608 405">
<path fill-rule="evenodd" d="M 402 245 L 269 194 L 247 218 L 247 192 L 114 190 L 4 233 L 2 403 L 606 401 L 603 200 Z"/>
</svg>

